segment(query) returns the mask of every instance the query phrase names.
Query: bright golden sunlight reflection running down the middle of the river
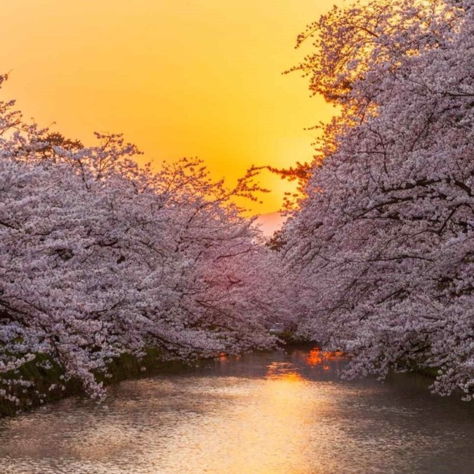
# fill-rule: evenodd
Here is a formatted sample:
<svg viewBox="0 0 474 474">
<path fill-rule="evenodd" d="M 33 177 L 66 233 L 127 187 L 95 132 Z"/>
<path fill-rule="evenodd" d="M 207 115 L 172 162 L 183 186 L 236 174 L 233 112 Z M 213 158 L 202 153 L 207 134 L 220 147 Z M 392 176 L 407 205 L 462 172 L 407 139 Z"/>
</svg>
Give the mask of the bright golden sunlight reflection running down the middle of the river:
<svg viewBox="0 0 474 474">
<path fill-rule="evenodd" d="M 272 362 L 265 378 L 240 381 L 227 393 L 229 402 L 201 423 L 189 419 L 175 437 L 170 472 L 306 473 L 305 426 L 311 412 L 307 381 L 289 362 Z M 192 443 L 187 433 L 199 431 Z M 191 467 L 192 466 L 192 467 Z"/>
</svg>

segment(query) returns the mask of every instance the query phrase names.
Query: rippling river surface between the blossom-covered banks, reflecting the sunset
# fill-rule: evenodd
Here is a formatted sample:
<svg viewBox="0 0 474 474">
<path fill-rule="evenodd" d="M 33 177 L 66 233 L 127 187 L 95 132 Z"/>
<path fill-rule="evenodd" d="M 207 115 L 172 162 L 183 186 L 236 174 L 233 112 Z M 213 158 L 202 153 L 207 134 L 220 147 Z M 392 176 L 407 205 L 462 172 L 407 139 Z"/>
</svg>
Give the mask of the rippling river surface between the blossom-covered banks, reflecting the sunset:
<svg viewBox="0 0 474 474">
<path fill-rule="evenodd" d="M 422 376 L 338 380 L 317 350 L 126 381 L 0 420 L 0 473 L 474 473 L 474 404 Z"/>
</svg>

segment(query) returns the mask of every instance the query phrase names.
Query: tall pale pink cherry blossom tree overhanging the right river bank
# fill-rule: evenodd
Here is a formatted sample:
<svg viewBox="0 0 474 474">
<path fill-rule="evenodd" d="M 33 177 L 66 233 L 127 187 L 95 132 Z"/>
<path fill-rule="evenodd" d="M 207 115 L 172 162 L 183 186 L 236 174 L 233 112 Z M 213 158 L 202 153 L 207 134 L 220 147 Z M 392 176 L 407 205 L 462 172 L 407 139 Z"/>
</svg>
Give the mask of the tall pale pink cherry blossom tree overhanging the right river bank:
<svg viewBox="0 0 474 474">
<path fill-rule="evenodd" d="M 294 68 L 338 105 L 283 239 L 300 331 L 346 375 L 426 367 L 474 393 L 472 0 L 374 0 Z"/>
</svg>

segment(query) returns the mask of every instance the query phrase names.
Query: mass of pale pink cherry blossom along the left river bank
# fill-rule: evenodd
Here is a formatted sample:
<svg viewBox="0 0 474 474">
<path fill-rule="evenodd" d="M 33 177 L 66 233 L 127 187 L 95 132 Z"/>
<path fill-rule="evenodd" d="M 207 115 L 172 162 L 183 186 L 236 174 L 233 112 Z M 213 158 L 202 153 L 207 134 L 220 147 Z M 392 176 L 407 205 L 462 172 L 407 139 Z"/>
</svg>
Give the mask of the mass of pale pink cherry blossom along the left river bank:
<svg viewBox="0 0 474 474">
<path fill-rule="evenodd" d="M 231 190 L 197 159 L 153 173 L 119 135 L 84 147 L 13 105 L 0 103 L 1 397 L 44 395 L 20 378 L 26 362 L 100 398 L 97 375 L 121 353 L 190 360 L 275 343 L 275 256 L 231 202 L 255 199 L 256 169 Z"/>
</svg>

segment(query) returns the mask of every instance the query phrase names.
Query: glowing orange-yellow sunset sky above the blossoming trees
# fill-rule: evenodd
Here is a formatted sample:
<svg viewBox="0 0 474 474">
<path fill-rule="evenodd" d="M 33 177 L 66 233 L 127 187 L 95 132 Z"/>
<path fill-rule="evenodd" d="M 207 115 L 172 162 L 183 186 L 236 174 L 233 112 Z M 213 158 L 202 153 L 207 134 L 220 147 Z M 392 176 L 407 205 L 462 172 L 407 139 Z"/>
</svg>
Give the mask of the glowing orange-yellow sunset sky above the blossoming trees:
<svg viewBox="0 0 474 474">
<path fill-rule="evenodd" d="M 301 74 L 296 35 L 342 0 L 11 0 L 1 5 L 4 98 L 25 118 L 93 144 L 124 133 L 143 162 L 204 159 L 229 185 L 255 164 L 312 156 L 312 131 L 333 109 Z M 277 211 L 285 189 L 254 213 Z M 285 187 L 286 186 L 286 187 Z"/>
</svg>

